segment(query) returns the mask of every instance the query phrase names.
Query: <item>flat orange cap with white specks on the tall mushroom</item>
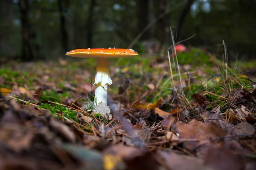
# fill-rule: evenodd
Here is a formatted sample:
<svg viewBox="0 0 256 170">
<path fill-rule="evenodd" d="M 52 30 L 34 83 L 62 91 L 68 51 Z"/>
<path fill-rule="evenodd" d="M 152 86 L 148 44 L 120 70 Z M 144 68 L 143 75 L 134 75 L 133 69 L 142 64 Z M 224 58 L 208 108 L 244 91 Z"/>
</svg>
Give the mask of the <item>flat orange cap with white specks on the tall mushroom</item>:
<svg viewBox="0 0 256 170">
<path fill-rule="evenodd" d="M 132 49 L 123 48 L 87 48 L 72 50 L 66 55 L 79 58 L 122 58 L 133 57 L 138 53 Z"/>
</svg>

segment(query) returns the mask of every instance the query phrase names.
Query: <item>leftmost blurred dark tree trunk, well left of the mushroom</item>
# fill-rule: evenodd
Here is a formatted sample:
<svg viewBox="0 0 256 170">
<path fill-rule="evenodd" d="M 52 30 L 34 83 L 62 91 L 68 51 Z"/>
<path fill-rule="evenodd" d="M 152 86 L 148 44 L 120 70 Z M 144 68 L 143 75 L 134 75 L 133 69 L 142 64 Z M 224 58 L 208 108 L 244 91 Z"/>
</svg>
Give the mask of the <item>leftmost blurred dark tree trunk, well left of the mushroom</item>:
<svg viewBox="0 0 256 170">
<path fill-rule="evenodd" d="M 31 61 L 34 59 L 30 37 L 31 30 L 29 25 L 29 0 L 19 0 L 18 2 L 20 10 L 20 21 L 21 21 L 21 37 L 22 37 L 22 61 Z"/>
</svg>

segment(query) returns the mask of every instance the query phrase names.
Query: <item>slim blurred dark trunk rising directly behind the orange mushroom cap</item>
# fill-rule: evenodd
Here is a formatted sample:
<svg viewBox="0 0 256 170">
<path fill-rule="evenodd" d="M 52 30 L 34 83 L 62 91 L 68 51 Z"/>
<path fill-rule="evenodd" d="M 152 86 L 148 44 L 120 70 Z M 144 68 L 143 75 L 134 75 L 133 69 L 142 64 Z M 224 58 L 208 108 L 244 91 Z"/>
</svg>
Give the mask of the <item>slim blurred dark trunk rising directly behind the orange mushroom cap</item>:
<svg viewBox="0 0 256 170">
<path fill-rule="evenodd" d="M 93 11 L 94 7 L 96 5 L 96 0 L 90 1 L 90 8 L 88 12 L 88 18 L 87 18 L 87 47 L 92 48 L 93 47 Z"/>
</svg>

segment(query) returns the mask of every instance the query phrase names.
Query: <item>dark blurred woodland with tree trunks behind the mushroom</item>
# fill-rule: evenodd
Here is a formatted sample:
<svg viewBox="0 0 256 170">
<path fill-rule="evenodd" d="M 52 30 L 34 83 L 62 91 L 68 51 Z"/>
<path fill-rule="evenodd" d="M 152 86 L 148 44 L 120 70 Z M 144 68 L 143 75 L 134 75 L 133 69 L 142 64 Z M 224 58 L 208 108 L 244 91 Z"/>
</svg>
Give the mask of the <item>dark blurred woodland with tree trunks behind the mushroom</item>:
<svg viewBox="0 0 256 170">
<path fill-rule="evenodd" d="M 256 54 L 256 0 L 1 0 L 0 57 L 32 61 L 76 48 L 166 51 L 175 41 L 229 59 Z"/>
</svg>

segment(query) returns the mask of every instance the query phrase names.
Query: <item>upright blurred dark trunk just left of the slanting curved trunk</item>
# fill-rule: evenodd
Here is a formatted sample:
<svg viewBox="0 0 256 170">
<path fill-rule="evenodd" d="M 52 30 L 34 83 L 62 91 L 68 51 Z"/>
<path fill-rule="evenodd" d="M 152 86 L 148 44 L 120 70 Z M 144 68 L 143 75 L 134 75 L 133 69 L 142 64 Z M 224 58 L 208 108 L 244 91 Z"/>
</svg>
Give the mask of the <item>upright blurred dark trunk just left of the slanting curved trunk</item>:
<svg viewBox="0 0 256 170">
<path fill-rule="evenodd" d="M 159 17 L 160 14 L 164 13 L 169 9 L 169 0 L 156 0 L 154 1 L 155 17 Z M 169 14 L 164 15 L 156 23 L 155 37 L 160 41 L 160 46 L 166 42 L 166 34 L 169 31 Z M 168 30 L 166 30 L 168 29 Z"/>
</svg>

